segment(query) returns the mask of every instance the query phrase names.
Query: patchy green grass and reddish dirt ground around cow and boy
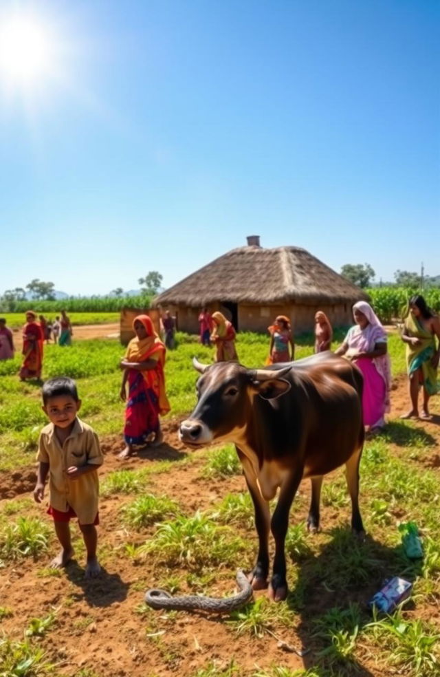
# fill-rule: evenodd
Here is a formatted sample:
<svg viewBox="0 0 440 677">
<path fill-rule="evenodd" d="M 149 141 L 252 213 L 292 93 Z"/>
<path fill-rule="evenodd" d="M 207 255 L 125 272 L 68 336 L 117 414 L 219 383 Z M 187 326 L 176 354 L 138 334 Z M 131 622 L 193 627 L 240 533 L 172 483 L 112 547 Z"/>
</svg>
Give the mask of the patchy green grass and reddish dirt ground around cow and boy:
<svg viewBox="0 0 440 677">
<path fill-rule="evenodd" d="M 166 443 L 120 462 L 123 405 L 118 400 L 117 341 L 78 341 L 71 349 L 47 347 L 43 376 L 76 378 L 81 415 L 100 433 L 105 453 L 99 552 L 104 572 L 83 579 L 78 563 L 47 569 L 56 550 L 51 524 L 31 500 L 33 459 L 41 425 L 39 389 L 19 383 L 19 359 L 0 364 L 0 664 L 6 676 L 68 677 L 434 677 L 439 674 L 440 526 L 438 520 L 439 399 L 434 422 L 402 422 L 406 408 L 404 350 L 390 336 L 395 390 L 391 423 L 366 444 L 361 467 L 361 508 L 368 532 L 355 541 L 342 471 L 325 480 L 322 532 L 308 535 L 309 486 L 292 508 L 287 537 L 290 593 L 269 603 L 264 593 L 239 612 L 219 618 L 154 612 L 144 591 L 231 594 L 236 568 L 249 569 L 256 554 L 252 507 L 230 446 L 187 452 L 177 421 L 195 402 L 190 358 L 210 361 L 212 351 L 178 334 L 166 365 L 172 411 Z M 342 333 L 337 339 L 342 339 Z M 241 334 L 241 362 L 263 364 L 267 339 Z M 311 354 L 311 336 L 296 357 Z M 415 520 L 425 556 L 406 559 L 399 522 Z M 75 535 L 78 534 L 74 526 Z M 383 579 L 414 582 L 412 599 L 391 617 L 373 619 L 366 601 Z M 303 658 L 277 648 L 274 633 L 309 649 Z M 28 661 L 28 663 L 25 663 Z M 19 672 L 19 665 L 28 665 Z M 0 671 L 0 674 L 3 674 Z"/>
</svg>

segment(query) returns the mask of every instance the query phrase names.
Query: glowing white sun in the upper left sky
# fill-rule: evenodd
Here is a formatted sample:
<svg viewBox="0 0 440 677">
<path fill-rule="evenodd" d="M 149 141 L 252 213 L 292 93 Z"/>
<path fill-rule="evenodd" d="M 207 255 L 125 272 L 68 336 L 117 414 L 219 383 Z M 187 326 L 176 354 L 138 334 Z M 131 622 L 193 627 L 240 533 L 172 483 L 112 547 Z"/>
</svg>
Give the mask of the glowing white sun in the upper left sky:
<svg viewBox="0 0 440 677">
<path fill-rule="evenodd" d="M 17 15 L 0 24 L 0 73 L 10 85 L 36 85 L 50 74 L 53 41 L 45 25 Z"/>
</svg>

